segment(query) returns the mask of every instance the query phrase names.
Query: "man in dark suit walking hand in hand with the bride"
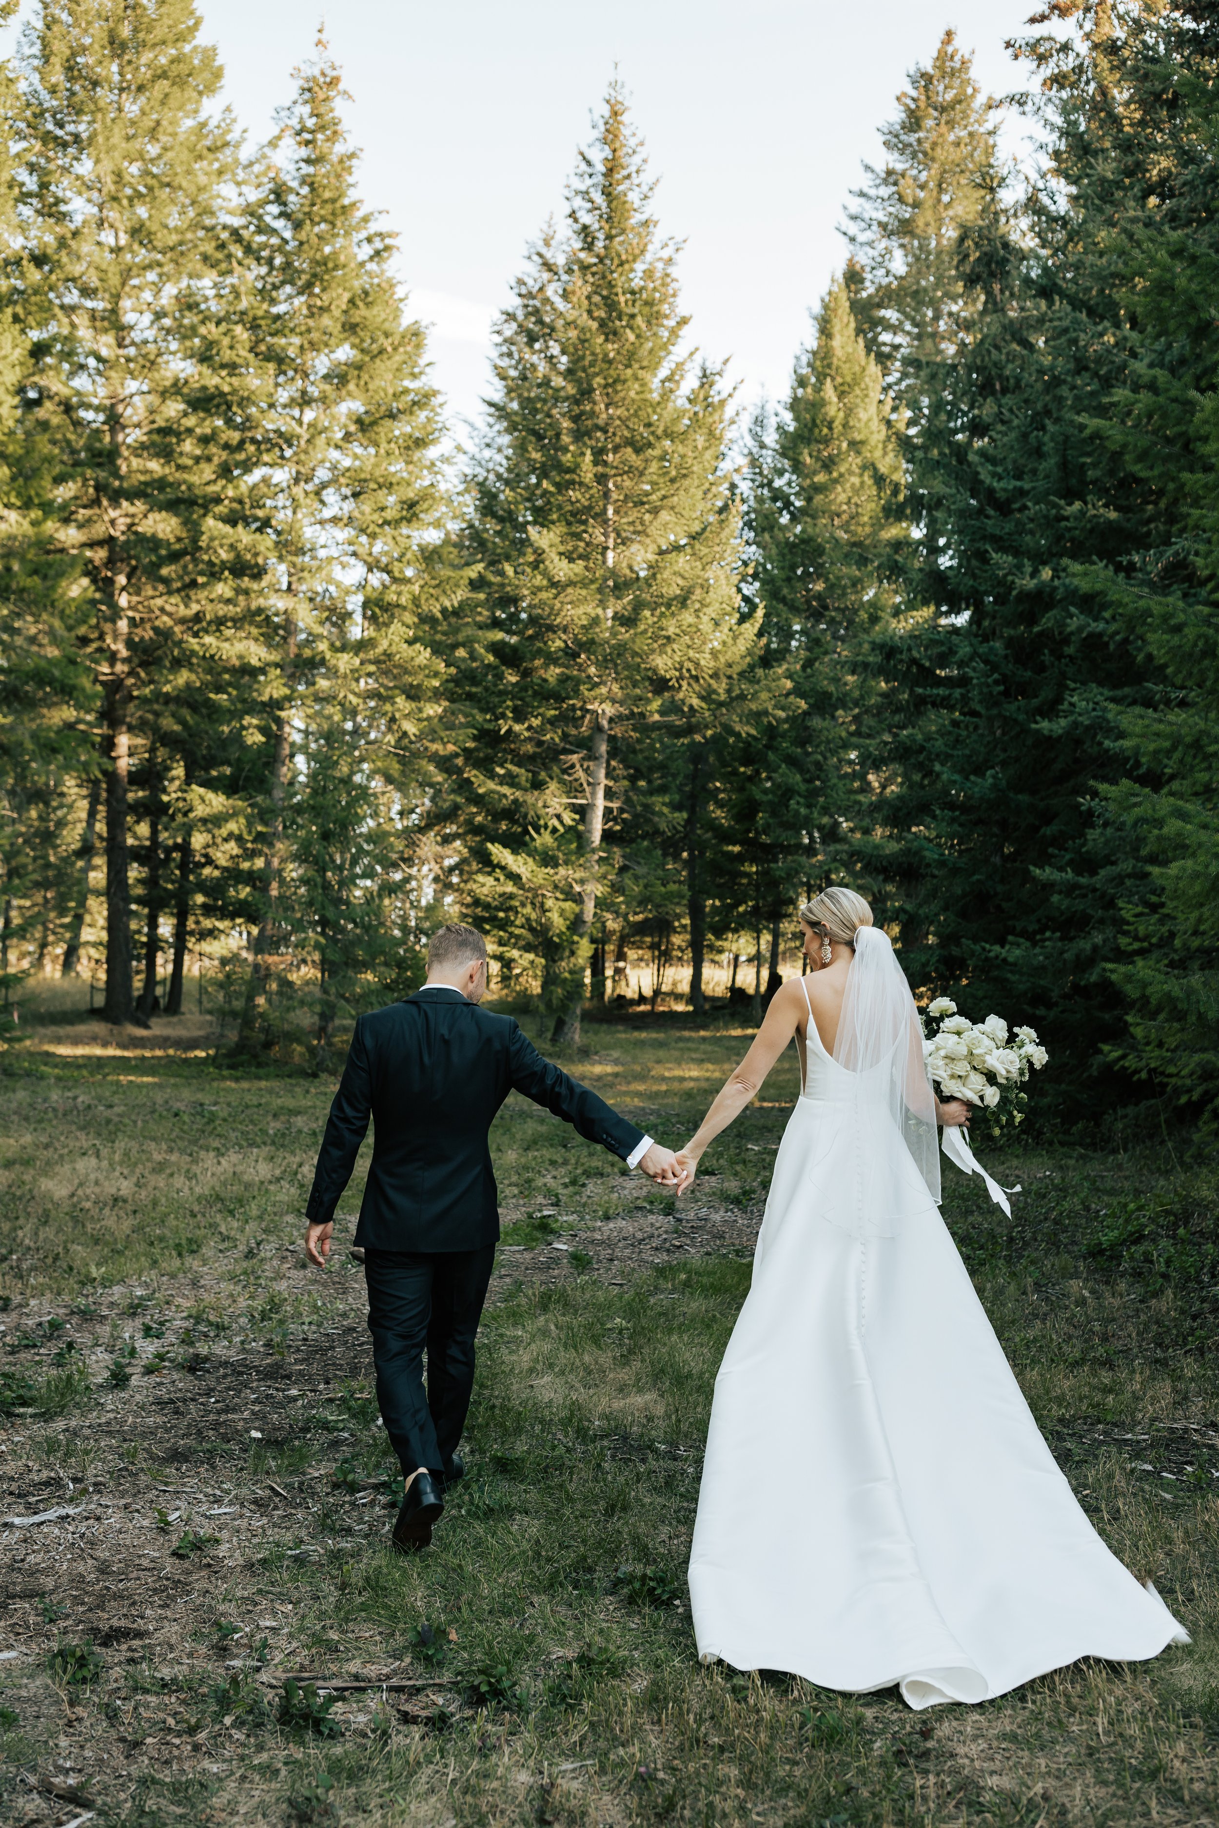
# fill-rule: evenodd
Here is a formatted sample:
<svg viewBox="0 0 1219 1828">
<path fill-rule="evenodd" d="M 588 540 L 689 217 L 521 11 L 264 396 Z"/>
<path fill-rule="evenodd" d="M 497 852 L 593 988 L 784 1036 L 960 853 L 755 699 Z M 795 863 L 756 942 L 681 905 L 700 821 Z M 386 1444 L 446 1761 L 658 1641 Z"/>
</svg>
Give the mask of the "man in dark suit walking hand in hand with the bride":
<svg viewBox="0 0 1219 1828">
<path fill-rule="evenodd" d="M 545 1104 L 629 1168 L 667 1186 L 682 1181 L 671 1150 L 543 1060 L 512 1016 L 479 1009 L 484 994 L 482 934 L 440 927 L 428 947 L 424 987 L 360 1016 L 305 1208 L 305 1256 L 325 1267 L 334 1206 L 373 1117 L 356 1245 L 364 1247 L 376 1400 L 406 1481 L 393 1530 L 404 1552 L 431 1541 L 444 1488 L 464 1472 L 457 1444 L 499 1239 L 486 1133 L 508 1093 Z"/>
</svg>

